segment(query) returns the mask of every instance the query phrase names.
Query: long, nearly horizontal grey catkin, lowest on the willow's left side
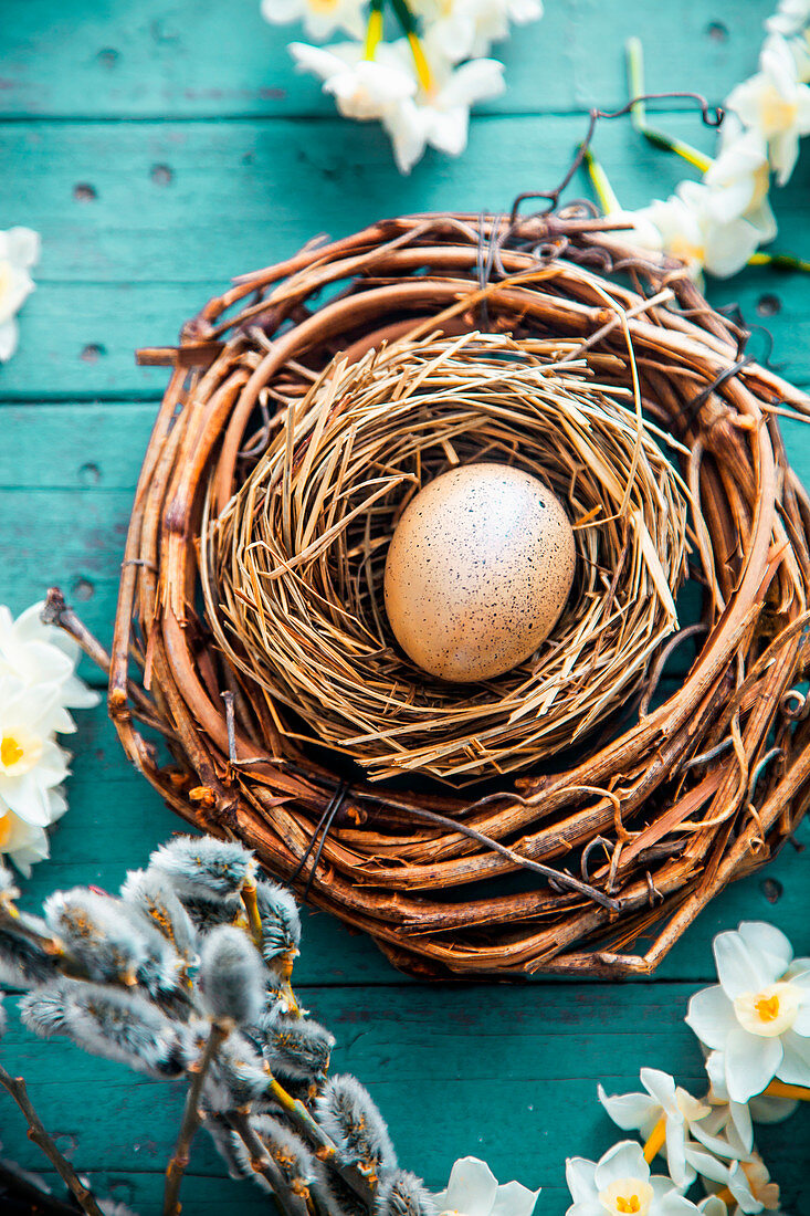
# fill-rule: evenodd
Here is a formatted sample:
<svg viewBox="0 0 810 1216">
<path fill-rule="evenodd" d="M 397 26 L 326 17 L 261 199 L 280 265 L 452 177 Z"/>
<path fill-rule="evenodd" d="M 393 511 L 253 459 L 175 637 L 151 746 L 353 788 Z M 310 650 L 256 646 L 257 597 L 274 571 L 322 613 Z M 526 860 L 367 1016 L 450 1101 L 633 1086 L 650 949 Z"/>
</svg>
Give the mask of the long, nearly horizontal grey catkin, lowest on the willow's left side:
<svg viewBox="0 0 810 1216">
<path fill-rule="evenodd" d="M 19 1013 L 44 1038 L 67 1035 L 92 1055 L 152 1076 L 181 1076 L 189 1062 L 186 1028 L 137 992 L 63 979 L 30 992 Z"/>
</svg>

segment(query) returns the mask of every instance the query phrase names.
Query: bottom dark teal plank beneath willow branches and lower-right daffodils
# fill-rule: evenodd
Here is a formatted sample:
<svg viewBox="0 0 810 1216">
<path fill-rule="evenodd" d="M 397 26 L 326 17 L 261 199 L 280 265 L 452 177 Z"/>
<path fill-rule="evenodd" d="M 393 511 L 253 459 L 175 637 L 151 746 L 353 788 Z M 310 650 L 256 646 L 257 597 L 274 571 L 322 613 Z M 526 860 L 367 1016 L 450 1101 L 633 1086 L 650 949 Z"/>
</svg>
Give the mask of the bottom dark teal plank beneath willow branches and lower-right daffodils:
<svg viewBox="0 0 810 1216">
<path fill-rule="evenodd" d="M 501 1178 L 542 1184 L 540 1210 L 562 1216 L 566 1155 L 603 1152 L 621 1138 L 596 1100 L 597 1079 L 608 1092 L 624 1092 L 637 1088 L 640 1066 L 654 1065 L 702 1092 L 701 1053 L 682 1021 L 693 987 L 338 989 L 313 991 L 308 1003 L 337 1037 L 333 1070 L 354 1073 L 369 1086 L 403 1165 L 439 1187 L 452 1161 L 472 1153 Z M 67 1043 L 43 1043 L 22 1031 L 13 1014 L 4 1060 L 27 1077 L 63 1143 L 75 1144 L 73 1160 L 81 1170 L 113 1176 L 125 1170 L 134 1206 L 154 1210 L 156 1175 L 178 1125 L 180 1087 L 135 1077 Z M 9 1119 L 6 1104 L 0 1094 L 4 1152 L 34 1166 L 36 1149 Z M 797 1153 L 810 1128 L 806 1109 L 789 1128 L 788 1136 L 782 1127 L 767 1137 L 767 1159 L 784 1184 L 783 1210 L 798 1214 L 810 1204 Z M 192 1170 L 212 1178 L 224 1173 L 202 1137 Z M 227 1194 L 240 1211 L 258 1211 L 249 1189 L 218 1184 L 214 1194 Z"/>
</svg>

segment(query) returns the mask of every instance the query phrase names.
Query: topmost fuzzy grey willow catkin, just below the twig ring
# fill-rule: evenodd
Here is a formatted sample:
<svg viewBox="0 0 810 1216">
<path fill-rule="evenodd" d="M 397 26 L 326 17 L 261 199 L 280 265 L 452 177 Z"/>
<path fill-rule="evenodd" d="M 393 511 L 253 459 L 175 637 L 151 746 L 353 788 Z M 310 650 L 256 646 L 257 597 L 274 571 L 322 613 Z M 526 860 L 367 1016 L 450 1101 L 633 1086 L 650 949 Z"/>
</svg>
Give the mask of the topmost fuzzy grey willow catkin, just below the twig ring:
<svg viewBox="0 0 810 1216">
<path fill-rule="evenodd" d="M 255 869 L 244 845 L 214 837 L 176 837 L 153 852 L 150 863 L 170 879 L 184 903 L 238 895 Z"/>
</svg>

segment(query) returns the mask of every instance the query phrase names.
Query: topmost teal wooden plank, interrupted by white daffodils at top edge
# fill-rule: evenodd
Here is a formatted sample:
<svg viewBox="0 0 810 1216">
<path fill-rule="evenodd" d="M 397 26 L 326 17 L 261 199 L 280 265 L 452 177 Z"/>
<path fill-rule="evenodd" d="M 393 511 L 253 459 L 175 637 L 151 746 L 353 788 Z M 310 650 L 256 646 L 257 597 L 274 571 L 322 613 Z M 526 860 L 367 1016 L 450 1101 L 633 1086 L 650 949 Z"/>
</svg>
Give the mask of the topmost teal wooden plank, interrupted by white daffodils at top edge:
<svg viewBox="0 0 810 1216">
<path fill-rule="evenodd" d="M 615 108 L 626 100 L 623 45 L 645 41 L 649 88 L 699 89 L 720 101 L 755 67 L 753 30 L 771 0 L 649 5 L 556 0 L 541 22 L 495 47 L 508 91 L 486 108 L 510 113 Z M 300 28 L 263 22 L 258 0 L 167 10 L 114 0 L 69 12 L 55 0 L 12 4 L 4 29 L 0 116 L 216 117 L 325 114 L 317 83 L 293 73 L 287 43 Z M 572 36 L 573 32 L 576 36 Z"/>
</svg>

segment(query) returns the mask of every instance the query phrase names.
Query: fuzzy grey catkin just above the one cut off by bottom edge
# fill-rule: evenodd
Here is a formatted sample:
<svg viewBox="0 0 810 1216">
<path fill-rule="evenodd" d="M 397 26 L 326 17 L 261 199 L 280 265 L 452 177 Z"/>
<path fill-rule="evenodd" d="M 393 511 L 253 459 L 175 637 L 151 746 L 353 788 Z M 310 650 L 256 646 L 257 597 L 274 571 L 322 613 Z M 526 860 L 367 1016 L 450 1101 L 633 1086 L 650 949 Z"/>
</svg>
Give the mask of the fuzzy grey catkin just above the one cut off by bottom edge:
<svg viewBox="0 0 810 1216">
<path fill-rule="evenodd" d="M 371 1094 L 348 1074 L 330 1077 L 317 1103 L 317 1121 L 337 1145 L 344 1165 L 356 1165 L 376 1180 L 396 1169 L 388 1128 Z"/>
</svg>

